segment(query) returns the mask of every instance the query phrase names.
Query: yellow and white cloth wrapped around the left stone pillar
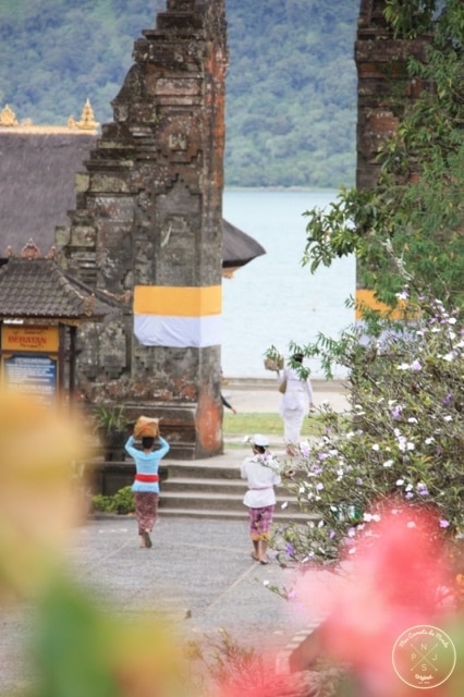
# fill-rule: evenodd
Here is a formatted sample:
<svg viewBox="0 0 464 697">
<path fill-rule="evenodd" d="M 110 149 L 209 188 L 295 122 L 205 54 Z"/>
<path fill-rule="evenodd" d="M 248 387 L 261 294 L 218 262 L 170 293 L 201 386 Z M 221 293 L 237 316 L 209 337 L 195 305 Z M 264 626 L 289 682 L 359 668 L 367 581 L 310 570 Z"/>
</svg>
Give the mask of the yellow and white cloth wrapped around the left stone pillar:
<svg viewBox="0 0 464 697">
<path fill-rule="evenodd" d="M 219 345 L 221 309 L 220 285 L 136 285 L 134 334 L 144 346 Z"/>
</svg>

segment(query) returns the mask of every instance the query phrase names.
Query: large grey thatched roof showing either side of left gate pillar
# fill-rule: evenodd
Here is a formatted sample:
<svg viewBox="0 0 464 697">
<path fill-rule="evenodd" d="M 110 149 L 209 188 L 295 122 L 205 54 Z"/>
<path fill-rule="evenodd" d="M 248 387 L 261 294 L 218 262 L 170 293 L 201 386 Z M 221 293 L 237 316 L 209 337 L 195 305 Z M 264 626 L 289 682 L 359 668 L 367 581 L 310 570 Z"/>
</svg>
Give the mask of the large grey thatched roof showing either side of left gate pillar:
<svg viewBox="0 0 464 697">
<path fill-rule="evenodd" d="M 33 239 L 47 252 L 54 229 L 76 205 L 74 176 L 96 146 L 93 133 L 65 129 L 0 129 L 0 257 Z M 266 254 L 253 237 L 223 220 L 224 274 Z"/>
</svg>

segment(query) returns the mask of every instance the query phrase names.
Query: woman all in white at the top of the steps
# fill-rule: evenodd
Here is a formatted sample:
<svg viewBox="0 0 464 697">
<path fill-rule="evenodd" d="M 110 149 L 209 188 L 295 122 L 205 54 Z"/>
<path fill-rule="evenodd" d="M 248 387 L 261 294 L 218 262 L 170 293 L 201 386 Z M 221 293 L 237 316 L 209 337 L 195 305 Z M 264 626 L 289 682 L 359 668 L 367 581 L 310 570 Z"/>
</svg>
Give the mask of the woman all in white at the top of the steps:
<svg viewBox="0 0 464 697">
<path fill-rule="evenodd" d="M 292 363 L 303 363 L 303 354 L 292 356 Z M 309 378 L 302 378 L 300 372 L 288 366 L 282 372 L 278 370 L 278 380 L 282 384 L 286 380 L 286 389 L 282 394 L 279 414 L 283 419 L 283 437 L 286 443 L 286 453 L 296 455 L 296 445 L 300 443 L 303 419 L 307 411 L 315 408 L 313 386 Z M 308 406 L 306 406 L 308 403 Z"/>
</svg>

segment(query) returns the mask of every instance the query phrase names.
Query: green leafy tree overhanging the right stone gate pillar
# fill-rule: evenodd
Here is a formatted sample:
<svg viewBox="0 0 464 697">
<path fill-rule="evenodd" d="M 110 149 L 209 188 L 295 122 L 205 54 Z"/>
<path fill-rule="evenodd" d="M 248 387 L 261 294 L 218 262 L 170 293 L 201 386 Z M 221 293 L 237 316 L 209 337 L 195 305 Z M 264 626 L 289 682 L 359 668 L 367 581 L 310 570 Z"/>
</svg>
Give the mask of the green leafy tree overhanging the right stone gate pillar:
<svg viewBox="0 0 464 697">
<path fill-rule="evenodd" d="M 427 3 L 427 12 L 430 8 Z M 460 0 L 449 0 L 437 21 L 427 63 L 411 61 L 410 71 L 432 87 L 411 107 L 387 144 L 377 185 L 371 191 L 341 188 L 327 211 L 306 213 L 304 262 L 315 271 L 355 253 L 359 282 L 387 303 L 394 304 L 407 282 L 410 291 L 420 292 L 427 285 L 444 302 L 462 305 L 464 14 Z"/>
</svg>

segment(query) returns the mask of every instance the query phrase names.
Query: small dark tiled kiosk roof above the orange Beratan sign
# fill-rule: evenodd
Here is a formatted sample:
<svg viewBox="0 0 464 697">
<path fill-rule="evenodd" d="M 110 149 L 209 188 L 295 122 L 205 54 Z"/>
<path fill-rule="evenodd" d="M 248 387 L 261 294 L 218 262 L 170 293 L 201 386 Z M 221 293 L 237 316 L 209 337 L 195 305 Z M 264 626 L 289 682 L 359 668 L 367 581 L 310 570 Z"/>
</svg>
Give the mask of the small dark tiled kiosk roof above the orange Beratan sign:
<svg viewBox="0 0 464 697">
<path fill-rule="evenodd" d="M 121 307 L 103 292 L 94 294 L 52 259 L 12 258 L 0 267 L 2 319 L 97 319 Z"/>
</svg>

